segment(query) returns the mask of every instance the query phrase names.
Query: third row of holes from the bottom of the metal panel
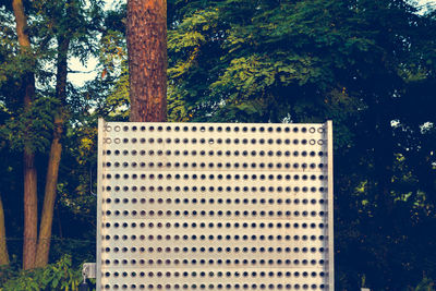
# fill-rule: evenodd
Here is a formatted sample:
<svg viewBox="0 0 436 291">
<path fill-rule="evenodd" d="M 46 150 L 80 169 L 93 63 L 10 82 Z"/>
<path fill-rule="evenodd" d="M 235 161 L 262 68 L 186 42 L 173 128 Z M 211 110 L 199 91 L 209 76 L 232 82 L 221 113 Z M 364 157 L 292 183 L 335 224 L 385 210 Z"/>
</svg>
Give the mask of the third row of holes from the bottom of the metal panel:
<svg viewBox="0 0 436 291">
<path fill-rule="evenodd" d="M 230 258 L 227 258 L 227 259 L 220 259 L 220 258 L 218 258 L 218 259 L 213 259 L 213 258 L 209 258 L 209 259 L 196 259 L 196 258 L 192 258 L 192 259 L 187 259 L 187 258 L 183 258 L 183 259 L 178 259 L 178 258 L 175 258 L 175 259 L 169 259 L 169 258 L 167 258 L 167 259 L 160 259 L 160 258 L 158 258 L 158 259 L 153 259 L 153 258 L 149 258 L 149 259 L 143 259 L 143 258 L 141 258 L 141 259 L 136 259 L 136 258 L 132 258 L 132 259 L 112 259 L 112 260 L 110 260 L 110 259 L 104 259 L 102 262 L 101 262 L 104 265 L 136 265 L 136 264 L 140 264 L 140 265 L 145 265 L 145 264 L 147 264 L 147 265 L 179 265 L 179 264 L 182 264 L 182 265 L 197 265 L 197 264 L 199 264 L 199 265 L 215 265 L 215 264 L 217 264 L 217 265 L 269 265 L 269 266 L 276 266 L 276 265 L 294 265 L 294 266 L 298 266 L 298 265 L 300 265 L 300 264 L 302 264 L 302 265 L 304 265 L 304 266 L 306 266 L 306 265 L 312 265 L 312 266 L 315 266 L 315 265 L 325 265 L 326 264 L 326 262 L 324 260 L 324 259 L 311 259 L 311 260 L 308 260 L 308 259 L 290 259 L 290 258 L 286 258 L 286 259 L 281 259 L 281 258 L 279 258 L 279 259 L 263 259 L 263 258 L 261 258 L 261 259 L 255 259 L 255 258 L 253 258 L 253 259 L 238 259 L 238 258 L 235 258 L 235 259 L 230 259 Z"/>
</svg>

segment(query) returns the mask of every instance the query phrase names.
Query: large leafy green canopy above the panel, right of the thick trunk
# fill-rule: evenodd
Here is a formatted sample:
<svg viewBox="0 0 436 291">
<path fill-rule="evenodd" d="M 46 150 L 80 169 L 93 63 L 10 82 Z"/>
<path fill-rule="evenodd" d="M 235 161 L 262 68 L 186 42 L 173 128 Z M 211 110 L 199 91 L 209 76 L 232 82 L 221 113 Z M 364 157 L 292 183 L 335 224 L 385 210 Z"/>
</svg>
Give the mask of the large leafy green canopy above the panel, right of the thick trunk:
<svg viewBox="0 0 436 291">
<path fill-rule="evenodd" d="M 390 58 L 391 52 L 386 54 L 387 48 L 377 43 L 377 34 L 385 29 L 391 32 L 388 38 L 395 37 L 389 25 L 399 27 L 399 22 L 413 20 L 413 8 L 407 4 L 390 8 L 389 1 L 377 5 L 370 1 L 195 2 L 186 5 L 192 9 L 186 9 L 180 24 L 169 31 L 171 119 L 191 120 L 193 116 L 198 120 L 218 114 L 222 120 L 243 121 L 241 117 L 250 120 L 253 116 L 252 120 L 280 121 L 293 111 L 292 107 L 308 102 L 312 108 L 324 106 L 324 110 L 332 111 L 324 105 L 324 96 L 344 88 L 360 100 L 356 93 L 362 88 L 354 88 L 355 84 L 368 82 L 376 70 L 403 72 L 412 64 L 395 60 L 380 63 L 383 56 Z M 395 14 L 397 23 L 372 25 L 382 13 Z M 410 28 L 407 33 L 417 31 Z M 380 64 L 391 68 L 383 69 Z M 401 70 L 395 65 L 401 65 Z M 234 106 L 237 99 L 244 106 Z M 263 116 L 252 106 L 253 99 L 263 105 Z M 231 113 L 237 108 L 245 113 Z"/>
</svg>

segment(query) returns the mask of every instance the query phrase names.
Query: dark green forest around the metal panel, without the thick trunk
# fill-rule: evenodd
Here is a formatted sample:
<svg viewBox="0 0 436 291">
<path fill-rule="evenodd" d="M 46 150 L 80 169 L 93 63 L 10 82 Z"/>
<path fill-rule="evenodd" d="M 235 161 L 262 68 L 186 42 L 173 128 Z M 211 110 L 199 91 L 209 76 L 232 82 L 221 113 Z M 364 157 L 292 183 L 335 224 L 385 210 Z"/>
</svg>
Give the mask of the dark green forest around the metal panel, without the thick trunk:
<svg viewBox="0 0 436 291">
<path fill-rule="evenodd" d="M 24 1 L 20 29 L 17 2 L 0 1 L 0 289 L 74 290 L 95 262 L 97 119 L 129 119 L 125 3 Z M 334 120 L 336 290 L 435 289 L 435 7 L 171 0 L 167 24 L 168 121 Z M 72 58 L 95 77 L 71 82 Z M 52 218 L 27 263 L 23 151 Z"/>
</svg>

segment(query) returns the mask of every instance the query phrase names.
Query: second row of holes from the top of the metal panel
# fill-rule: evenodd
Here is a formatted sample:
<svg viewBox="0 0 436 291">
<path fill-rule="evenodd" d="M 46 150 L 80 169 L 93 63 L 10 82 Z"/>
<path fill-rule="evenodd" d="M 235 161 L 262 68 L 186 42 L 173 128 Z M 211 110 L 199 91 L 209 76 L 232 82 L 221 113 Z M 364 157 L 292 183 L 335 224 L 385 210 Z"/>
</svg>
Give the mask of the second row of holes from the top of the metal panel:
<svg viewBox="0 0 436 291">
<path fill-rule="evenodd" d="M 157 143 L 157 144 L 162 144 L 164 143 L 164 138 L 153 138 L 153 137 L 149 137 L 148 138 L 148 141 L 146 140 L 146 138 L 144 138 L 144 137 L 142 137 L 142 138 L 140 138 L 140 140 L 137 140 L 136 137 L 133 137 L 133 138 L 131 138 L 131 140 L 129 140 L 129 138 L 126 138 L 126 137 L 124 137 L 124 138 L 120 138 L 120 137 L 116 137 L 116 138 L 113 138 L 113 143 L 114 144 L 121 144 L 121 142 L 123 143 L 123 144 L 128 144 L 129 142 L 130 143 L 132 143 L 132 144 L 136 144 L 136 143 L 141 143 L 141 144 L 145 144 L 145 143 L 147 143 L 148 142 L 148 144 L 154 144 L 154 143 Z M 268 144 L 268 145 L 272 145 L 272 144 L 277 144 L 277 145 L 281 145 L 281 144 L 286 144 L 286 145 L 290 145 L 290 144 L 294 144 L 294 145 L 299 145 L 299 144 L 302 144 L 302 145 L 316 145 L 316 144 L 318 144 L 318 145 L 324 145 L 324 143 L 325 143 L 325 141 L 324 140 L 305 140 L 305 138 L 303 138 L 303 140 L 298 140 L 298 138 L 294 138 L 294 140 L 290 140 L 290 138 L 284 138 L 284 140 L 282 140 L 282 138 L 276 138 L 276 140 L 272 140 L 272 138 L 268 138 L 268 140 L 265 140 L 265 138 L 258 138 L 258 140 L 256 140 L 256 138 L 252 138 L 252 140 L 247 140 L 247 138 L 242 138 L 242 140 L 240 140 L 240 138 L 226 138 L 226 140 L 222 140 L 222 138 L 217 138 L 217 140 L 215 140 L 215 138 L 208 138 L 207 141 L 206 141 L 206 138 L 199 138 L 199 140 L 197 140 L 197 138 L 191 138 L 191 140 L 189 140 L 189 138 L 183 138 L 183 140 L 180 140 L 180 138 L 178 138 L 178 137 L 175 137 L 174 140 L 171 140 L 171 138 L 166 138 L 165 140 L 165 143 L 166 144 L 171 144 L 171 143 L 174 143 L 174 144 L 180 144 L 180 143 L 183 143 L 183 144 L 189 144 L 189 143 L 191 143 L 191 144 L 196 144 L 196 143 L 199 143 L 199 144 L 206 144 L 206 143 L 208 143 L 208 144 L 215 144 L 215 143 L 217 143 L 217 144 L 228 144 L 228 145 L 230 145 L 230 144 L 235 144 L 235 145 L 239 145 L 239 144 L 244 144 L 244 145 L 247 145 L 249 143 L 250 144 L 252 144 L 252 145 L 255 145 L 255 144 L 261 144 L 261 145 L 264 145 L 264 144 Z M 105 144 L 108 144 L 108 145 L 110 145 L 111 143 L 112 143 L 112 138 L 110 138 L 110 137 L 106 137 L 106 138 L 104 138 L 104 143 Z"/>
</svg>

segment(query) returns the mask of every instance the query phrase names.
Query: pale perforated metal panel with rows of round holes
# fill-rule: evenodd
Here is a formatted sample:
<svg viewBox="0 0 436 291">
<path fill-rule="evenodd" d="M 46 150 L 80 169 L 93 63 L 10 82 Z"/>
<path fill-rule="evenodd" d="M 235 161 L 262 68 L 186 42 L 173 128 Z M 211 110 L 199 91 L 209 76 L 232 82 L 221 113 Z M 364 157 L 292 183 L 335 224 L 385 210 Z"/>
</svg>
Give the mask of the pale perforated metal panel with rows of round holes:
<svg viewBox="0 0 436 291">
<path fill-rule="evenodd" d="M 334 290 L 331 122 L 98 130 L 99 290 Z"/>
</svg>

